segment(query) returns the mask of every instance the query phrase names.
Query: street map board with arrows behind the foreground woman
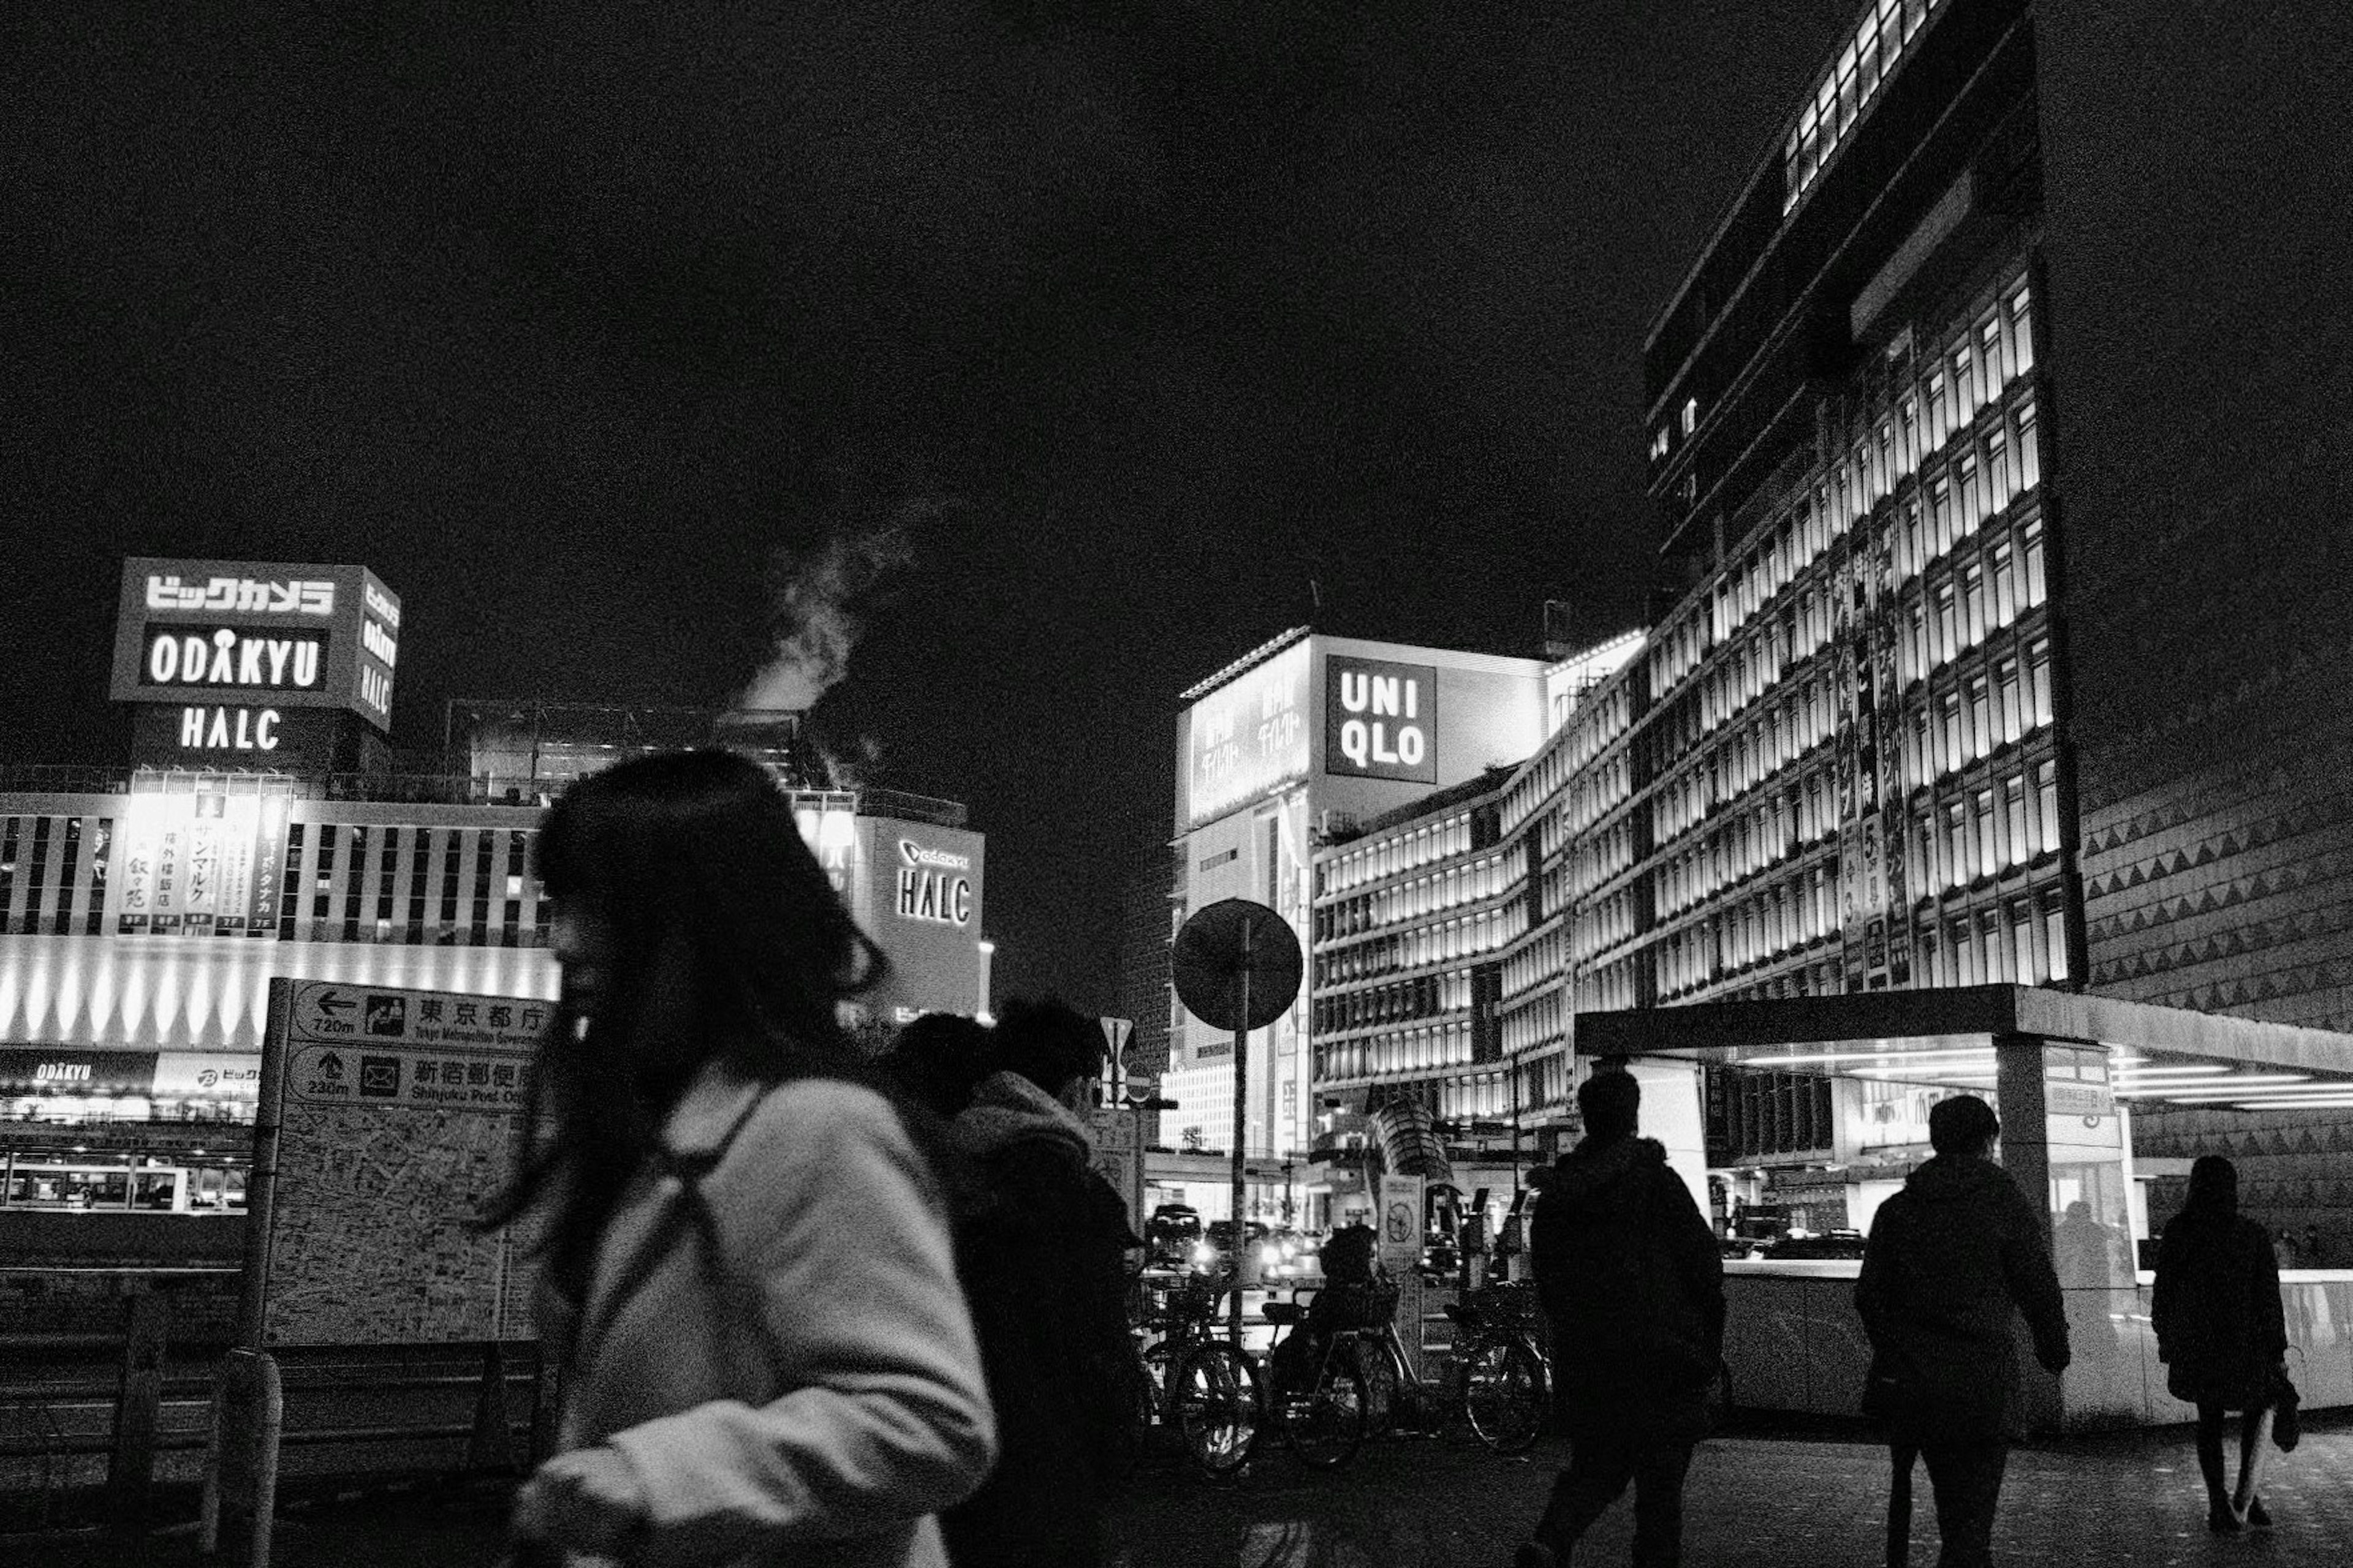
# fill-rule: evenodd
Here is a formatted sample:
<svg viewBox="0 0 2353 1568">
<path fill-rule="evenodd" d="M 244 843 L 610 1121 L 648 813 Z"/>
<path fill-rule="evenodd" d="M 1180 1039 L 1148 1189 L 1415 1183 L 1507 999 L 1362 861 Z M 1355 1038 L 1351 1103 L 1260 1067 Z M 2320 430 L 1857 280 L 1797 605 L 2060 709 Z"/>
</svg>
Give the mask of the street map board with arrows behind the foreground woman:
<svg viewBox="0 0 2353 1568">
<path fill-rule="evenodd" d="M 522 997 L 271 980 L 264 1347 L 532 1338 L 525 1239 L 478 1234 L 468 1218 L 513 1171 L 551 1011 Z"/>
</svg>

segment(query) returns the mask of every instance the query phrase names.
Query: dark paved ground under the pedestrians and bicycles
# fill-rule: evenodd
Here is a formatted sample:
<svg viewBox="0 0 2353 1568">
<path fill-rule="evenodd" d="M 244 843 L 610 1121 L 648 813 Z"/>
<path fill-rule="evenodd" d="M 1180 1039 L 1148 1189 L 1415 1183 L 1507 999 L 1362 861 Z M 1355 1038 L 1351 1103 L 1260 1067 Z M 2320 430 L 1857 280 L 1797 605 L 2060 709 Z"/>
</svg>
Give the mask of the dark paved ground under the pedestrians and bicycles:
<svg viewBox="0 0 2353 1568">
<path fill-rule="evenodd" d="M 2188 1429 L 2019 1448 L 2002 1488 L 1995 1559 L 2014 1568 L 2353 1563 L 2353 1420 L 2315 1418 L 2292 1455 L 2271 1455 L 2275 1530 L 2214 1537 Z M 1181 1469 L 1136 1476 L 1115 1521 L 1113 1568 L 1506 1568 L 1565 1460 L 1541 1443 L 1499 1460 L 1464 1436 L 1372 1443 L 1344 1472 L 1306 1472 L 1275 1446 L 1226 1486 Z M 1751 1429 L 1701 1446 L 1692 1465 L 1692 1568 L 1875 1568 L 1887 1455 L 1854 1427 Z M 322 1502 L 280 1523 L 280 1568 L 449 1568 L 496 1556 L 501 1505 L 487 1490 L 416 1490 Z M 1624 1563 L 1619 1505 L 1579 1563 Z M 9 1568 L 176 1568 L 202 1563 L 186 1533 L 144 1542 L 7 1542 Z M 228 1559 L 209 1559 L 226 1563 Z M 1925 1474 L 1913 1563 L 1937 1561 Z"/>
</svg>

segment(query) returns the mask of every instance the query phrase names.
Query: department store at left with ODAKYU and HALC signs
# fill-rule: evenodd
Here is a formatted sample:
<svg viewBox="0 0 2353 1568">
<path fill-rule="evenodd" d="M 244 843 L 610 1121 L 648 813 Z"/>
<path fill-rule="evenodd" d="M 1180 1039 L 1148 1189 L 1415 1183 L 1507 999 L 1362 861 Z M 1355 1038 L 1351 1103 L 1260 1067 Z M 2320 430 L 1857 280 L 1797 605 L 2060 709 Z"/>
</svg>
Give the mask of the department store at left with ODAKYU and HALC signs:
<svg viewBox="0 0 2353 1568">
<path fill-rule="evenodd" d="M 511 748 L 459 748 L 440 773 L 341 771 L 391 752 L 360 743 L 372 729 L 351 733 L 360 715 L 334 710 L 346 696 L 289 703 L 306 691 L 273 686 L 273 658 L 294 682 L 287 649 L 313 649 L 308 686 L 341 693 L 341 616 L 365 604 L 398 623 L 374 576 L 141 559 L 125 581 L 118 691 L 139 705 L 134 759 L 0 769 L 0 1208 L 136 1208 L 165 1178 L 172 1206 L 238 1208 L 247 1140 L 221 1124 L 254 1117 L 275 978 L 473 992 L 513 1013 L 501 1027 L 536 1027 L 529 1016 L 555 997 L 532 865 L 544 802 L 680 743 L 649 733 L 675 712 L 640 715 L 541 729 L 546 773 Z M 174 675 L 198 656 L 224 663 L 193 691 L 141 684 L 167 668 L 162 646 Z M 381 630 L 365 649 L 384 670 L 398 656 Z M 376 712 L 391 691 L 360 682 L 351 696 Z M 181 724 L 181 708 L 202 724 Z M 776 773 L 805 842 L 892 959 L 861 999 L 875 1032 L 920 1011 L 986 1011 L 984 839 L 965 809 L 833 790 L 795 726 L 798 715 L 760 726 L 701 715 L 696 738 Z M 181 755 L 214 733 L 224 755 Z M 240 736 L 259 750 L 238 752 Z"/>
</svg>

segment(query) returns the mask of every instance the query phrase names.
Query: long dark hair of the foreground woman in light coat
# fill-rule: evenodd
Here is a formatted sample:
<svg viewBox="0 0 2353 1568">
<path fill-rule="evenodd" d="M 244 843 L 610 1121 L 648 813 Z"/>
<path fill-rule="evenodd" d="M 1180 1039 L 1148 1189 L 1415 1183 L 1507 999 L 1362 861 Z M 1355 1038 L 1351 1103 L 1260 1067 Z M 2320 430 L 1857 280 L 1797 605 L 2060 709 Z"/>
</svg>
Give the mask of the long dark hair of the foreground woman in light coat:
<svg viewBox="0 0 2353 1568">
<path fill-rule="evenodd" d="M 612 952 L 593 1018 L 553 1009 L 522 1152 L 482 1225 L 548 1204 L 541 1246 L 576 1298 L 624 1185 L 706 1063 L 887 1091 L 835 1013 L 887 959 L 800 839 L 791 802 L 734 752 L 661 752 L 576 780 L 541 818 L 534 853 L 546 893 L 588 910 Z"/>
</svg>

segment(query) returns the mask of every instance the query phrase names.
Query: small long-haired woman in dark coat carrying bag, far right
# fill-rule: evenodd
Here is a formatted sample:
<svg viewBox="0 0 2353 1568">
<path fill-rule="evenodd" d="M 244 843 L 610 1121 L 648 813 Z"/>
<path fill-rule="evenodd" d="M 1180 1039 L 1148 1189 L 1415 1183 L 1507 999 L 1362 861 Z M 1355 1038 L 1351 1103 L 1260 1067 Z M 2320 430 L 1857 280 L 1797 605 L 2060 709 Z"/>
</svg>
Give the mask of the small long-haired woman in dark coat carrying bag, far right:
<svg viewBox="0 0 2353 1568">
<path fill-rule="evenodd" d="M 2271 1432 L 2273 1389 L 2287 1356 L 2280 1265 L 2264 1227 L 2238 1213 L 2238 1166 L 2202 1154 L 2191 1166 L 2188 1201 L 2158 1241 L 2158 1288 L 2148 1305 L 2158 1361 L 2174 1399 L 2198 1406 L 2198 1472 L 2207 1483 L 2207 1528 L 2231 1535 L 2268 1526 L 2254 1483 Z M 2224 1486 L 2221 1422 L 2238 1429 L 2238 1493 Z"/>
</svg>

